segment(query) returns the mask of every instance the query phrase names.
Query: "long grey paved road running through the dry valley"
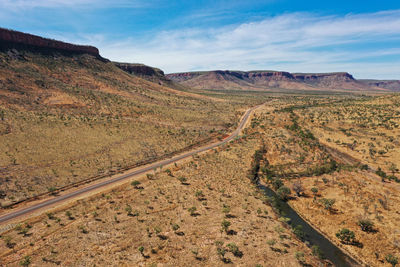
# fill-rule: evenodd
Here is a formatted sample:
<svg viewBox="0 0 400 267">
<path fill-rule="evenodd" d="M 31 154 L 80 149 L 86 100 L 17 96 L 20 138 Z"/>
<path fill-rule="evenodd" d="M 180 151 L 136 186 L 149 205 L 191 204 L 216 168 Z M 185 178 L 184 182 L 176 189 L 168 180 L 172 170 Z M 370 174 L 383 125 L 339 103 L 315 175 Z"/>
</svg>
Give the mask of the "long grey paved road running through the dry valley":
<svg viewBox="0 0 400 267">
<path fill-rule="evenodd" d="M 217 146 L 220 146 L 220 145 L 223 145 L 225 143 L 228 143 L 229 141 L 231 141 L 232 139 L 234 139 L 235 137 L 237 137 L 239 135 L 240 131 L 244 128 L 246 122 L 248 121 L 252 111 L 255 110 L 256 108 L 260 107 L 260 106 L 256 106 L 256 107 L 248 109 L 245 112 L 245 114 L 244 114 L 244 116 L 243 116 L 238 128 L 229 137 L 225 138 L 224 140 L 222 140 L 220 142 L 217 142 L 217 143 L 205 146 L 205 147 L 201 147 L 201 148 L 198 148 L 198 149 L 193 150 L 193 151 L 189 151 L 189 152 L 184 153 L 182 155 L 175 156 L 175 157 L 173 157 L 171 159 L 166 159 L 166 160 L 162 160 L 162 161 L 159 161 L 159 162 L 155 162 L 155 163 L 153 163 L 153 164 L 151 164 L 151 165 L 149 165 L 147 167 L 143 167 L 141 169 L 129 172 L 129 173 L 124 174 L 122 176 L 119 176 L 119 177 L 116 177 L 116 178 L 113 178 L 113 179 L 109 179 L 109 180 L 106 180 L 106 181 L 102 181 L 102 182 L 99 182 L 97 184 L 94 184 L 94 185 L 91 185 L 91 186 L 88 186 L 88 187 L 85 187 L 85 188 L 78 189 L 78 190 L 76 190 L 74 192 L 67 193 L 65 195 L 56 196 L 56 197 L 54 197 L 52 199 L 46 200 L 44 202 L 41 202 L 41 203 L 38 203 L 38 204 L 35 204 L 35 205 L 32 205 L 30 207 L 26 207 L 26 208 L 23 208 L 23 209 L 20 209 L 20 210 L 16 210 L 16 211 L 10 212 L 8 214 L 0 216 L 0 224 L 6 223 L 6 222 L 8 222 L 8 221 L 10 221 L 12 219 L 16 219 L 18 217 L 22 217 L 22 216 L 27 215 L 27 214 L 29 214 L 31 212 L 38 211 L 39 209 L 42 209 L 42 208 L 45 208 L 45 207 L 49 207 L 49 206 L 53 206 L 53 205 L 55 205 L 57 203 L 65 201 L 65 200 L 73 199 L 74 197 L 77 197 L 79 195 L 88 193 L 90 191 L 97 190 L 97 189 L 102 188 L 102 187 L 106 187 L 106 186 L 108 186 L 110 184 L 117 183 L 117 182 L 120 182 L 120 181 L 123 181 L 123 180 L 128 180 L 128 179 L 130 179 L 130 178 L 132 178 L 134 176 L 146 173 L 146 172 L 148 172 L 150 170 L 154 170 L 155 168 L 159 168 L 161 166 L 165 166 L 165 165 L 177 162 L 179 160 L 182 160 L 182 159 L 188 158 L 190 156 L 193 156 L 194 154 L 197 154 L 197 153 L 200 153 L 200 152 L 203 152 L 203 151 L 207 151 L 207 150 L 213 149 L 213 148 L 215 148 Z"/>
</svg>

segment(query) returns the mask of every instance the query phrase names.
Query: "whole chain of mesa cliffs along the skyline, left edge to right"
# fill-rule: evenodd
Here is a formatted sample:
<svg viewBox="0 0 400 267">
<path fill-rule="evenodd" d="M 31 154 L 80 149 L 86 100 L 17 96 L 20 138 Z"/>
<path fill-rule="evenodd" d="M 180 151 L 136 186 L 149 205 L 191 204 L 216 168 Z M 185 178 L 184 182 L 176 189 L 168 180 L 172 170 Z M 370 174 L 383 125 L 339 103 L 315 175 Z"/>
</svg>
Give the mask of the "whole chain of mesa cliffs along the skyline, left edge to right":
<svg viewBox="0 0 400 267">
<path fill-rule="evenodd" d="M 18 50 L 42 54 L 82 55 L 89 54 L 101 61 L 93 46 L 74 45 L 32 34 L 0 28 L 0 51 L 17 55 Z M 15 56 L 14 55 L 14 56 Z M 160 69 L 143 64 L 114 64 L 130 74 L 175 89 L 214 90 L 307 90 L 307 91 L 379 91 L 400 92 L 399 80 L 356 80 L 346 72 L 335 73 L 289 73 L 285 71 L 230 71 L 183 72 L 164 75 Z"/>
</svg>

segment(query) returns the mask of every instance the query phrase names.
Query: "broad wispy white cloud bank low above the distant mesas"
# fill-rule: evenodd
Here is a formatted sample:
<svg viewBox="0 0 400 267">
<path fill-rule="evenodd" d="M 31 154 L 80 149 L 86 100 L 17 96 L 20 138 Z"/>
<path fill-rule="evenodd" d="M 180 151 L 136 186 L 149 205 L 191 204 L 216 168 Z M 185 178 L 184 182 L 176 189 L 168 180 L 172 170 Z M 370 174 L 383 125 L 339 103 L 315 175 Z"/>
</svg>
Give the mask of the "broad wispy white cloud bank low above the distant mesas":
<svg viewBox="0 0 400 267">
<path fill-rule="evenodd" d="M 94 42 L 105 57 L 166 72 L 349 71 L 358 78 L 400 79 L 400 10 L 346 16 L 292 13 L 219 28 L 163 31 L 143 39 L 100 39 Z M 87 40 L 93 41 L 90 36 Z"/>
</svg>

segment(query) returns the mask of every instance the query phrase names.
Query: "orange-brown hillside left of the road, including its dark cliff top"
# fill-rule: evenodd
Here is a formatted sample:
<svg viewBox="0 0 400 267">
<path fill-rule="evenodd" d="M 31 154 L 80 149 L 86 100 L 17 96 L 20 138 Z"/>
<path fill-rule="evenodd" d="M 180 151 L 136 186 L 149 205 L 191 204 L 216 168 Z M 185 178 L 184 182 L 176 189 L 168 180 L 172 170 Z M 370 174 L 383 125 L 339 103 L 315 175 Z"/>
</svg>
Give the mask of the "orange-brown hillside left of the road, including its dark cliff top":
<svg viewBox="0 0 400 267">
<path fill-rule="evenodd" d="M 8 30 L 0 38 L 3 206 L 209 142 L 250 104 L 131 75 L 97 48 Z"/>
</svg>

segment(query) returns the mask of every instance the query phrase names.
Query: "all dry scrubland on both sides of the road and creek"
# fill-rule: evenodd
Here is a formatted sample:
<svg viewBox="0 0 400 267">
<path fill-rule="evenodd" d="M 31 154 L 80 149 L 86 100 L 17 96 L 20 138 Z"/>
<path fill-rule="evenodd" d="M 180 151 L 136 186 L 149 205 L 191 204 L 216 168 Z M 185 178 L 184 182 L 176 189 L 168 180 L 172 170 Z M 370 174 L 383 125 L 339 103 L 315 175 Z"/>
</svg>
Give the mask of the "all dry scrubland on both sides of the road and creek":
<svg viewBox="0 0 400 267">
<path fill-rule="evenodd" d="M 258 181 L 359 262 L 396 265 L 399 95 L 177 91 L 87 56 L 43 60 L 0 69 L 3 205 L 222 137 L 272 101 L 233 143 L 3 232 L 3 265 L 327 265 Z"/>
</svg>

